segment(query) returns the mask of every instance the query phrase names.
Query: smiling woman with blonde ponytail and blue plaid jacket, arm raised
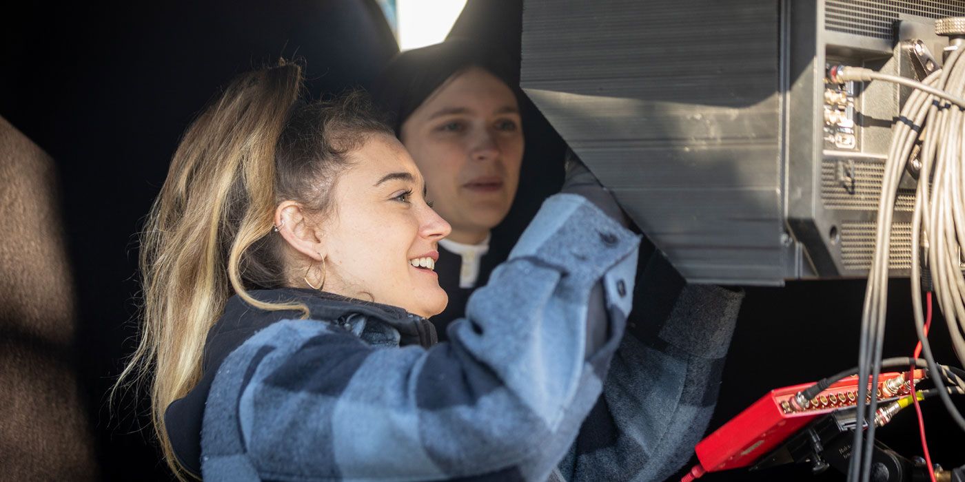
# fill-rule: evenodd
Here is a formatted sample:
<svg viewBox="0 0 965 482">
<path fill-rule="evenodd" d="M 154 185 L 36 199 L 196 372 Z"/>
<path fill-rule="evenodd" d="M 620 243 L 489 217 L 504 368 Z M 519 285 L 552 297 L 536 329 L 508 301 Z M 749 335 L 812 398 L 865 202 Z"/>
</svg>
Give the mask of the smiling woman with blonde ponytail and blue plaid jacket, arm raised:
<svg viewBox="0 0 965 482">
<path fill-rule="evenodd" d="M 363 94 L 301 86 L 291 64 L 236 78 L 185 133 L 144 229 L 143 337 L 122 381 L 150 381 L 168 464 L 226 481 L 545 480 L 620 341 L 638 237 L 581 174 L 439 343 L 450 226 L 423 175 Z"/>
</svg>

